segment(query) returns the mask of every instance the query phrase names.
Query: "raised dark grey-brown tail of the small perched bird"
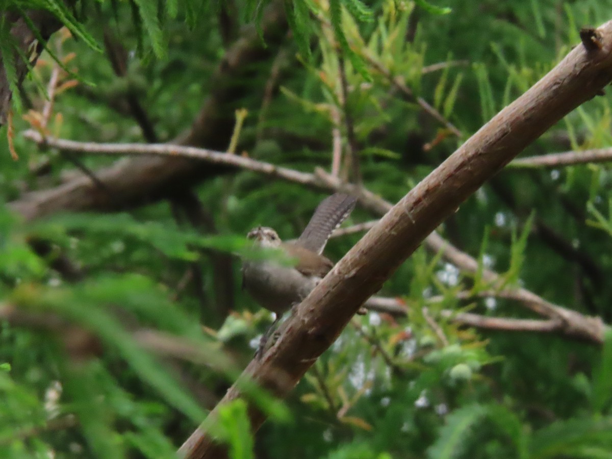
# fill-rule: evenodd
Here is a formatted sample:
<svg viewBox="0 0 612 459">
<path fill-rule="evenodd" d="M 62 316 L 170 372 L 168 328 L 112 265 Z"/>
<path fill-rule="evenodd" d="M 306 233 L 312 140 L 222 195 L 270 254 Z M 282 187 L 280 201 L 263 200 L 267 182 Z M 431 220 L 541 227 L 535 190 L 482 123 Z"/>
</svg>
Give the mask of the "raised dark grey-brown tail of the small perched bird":
<svg viewBox="0 0 612 459">
<path fill-rule="evenodd" d="M 351 214 L 356 202 L 357 198 L 344 193 L 335 193 L 321 201 L 295 243 L 319 255 L 323 253 L 332 231 Z"/>
</svg>

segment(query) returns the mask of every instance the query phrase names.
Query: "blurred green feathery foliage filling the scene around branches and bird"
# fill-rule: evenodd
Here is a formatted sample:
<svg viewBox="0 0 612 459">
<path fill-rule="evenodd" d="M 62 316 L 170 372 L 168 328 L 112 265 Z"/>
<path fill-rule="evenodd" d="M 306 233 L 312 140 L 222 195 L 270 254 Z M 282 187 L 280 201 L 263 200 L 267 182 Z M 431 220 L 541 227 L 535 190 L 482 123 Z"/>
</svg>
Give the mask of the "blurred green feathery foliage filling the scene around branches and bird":
<svg viewBox="0 0 612 459">
<path fill-rule="evenodd" d="M 173 141 L 215 89 L 215 69 L 244 28 L 261 28 L 266 8 L 285 7 L 293 33 L 275 41 L 260 30 L 265 56 L 247 76 L 226 81 L 224 90 L 234 95 L 218 108 L 228 119 L 226 135 L 202 146 L 224 151 L 233 136 L 239 154 L 303 171 L 329 168 L 334 127 L 346 146 L 345 124 L 335 117 L 348 111 L 365 186 L 395 202 L 550 70 L 580 41 L 580 26 L 610 19 L 610 6 L 552 0 L 3 3 L 3 18 L 43 7 L 67 29 L 53 35 L 23 91 L 14 94 L 18 161 L 7 129 L 0 131 L 2 457 L 174 457 L 271 321 L 240 288 L 239 261 L 231 259 L 221 284 L 215 256 L 244 253 L 244 234 L 261 223 L 283 238 L 297 236 L 324 197 L 234 171 L 191 188 L 209 222 L 204 227 L 188 223 L 181 195 L 150 196 L 121 212 L 26 222 L 8 203 L 116 161 L 39 149 L 19 135 L 41 129 L 54 71 L 64 86 L 56 91 L 48 135 Z M 9 25 L 3 19 L 4 56 Z M 113 69 L 110 50 L 124 53 L 122 72 Z M 375 63 L 433 105 L 460 136 L 401 94 Z M 3 64 L 10 73 L 14 64 Z M 143 107 L 148 134 L 126 105 L 130 100 Z M 234 110 L 242 108 L 248 114 L 237 129 Z M 609 96 L 597 97 L 524 155 L 606 147 L 610 122 Z M 510 165 L 439 230 L 503 273 L 508 285 L 609 322 L 609 169 L 606 163 L 554 170 Z M 371 217 L 357 209 L 349 223 Z M 339 259 L 357 239 L 330 241 L 327 255 Z M 612 457 L 612 341 L 600 347 L 458 327 L 442 310 L 529 317 L 493 294 L 458 299 L 470 289 L 476 294 L 488 286 L 419 249 L 382 291 L 408 305 L 407 318 L 373 312 L 355 318 L 286 405 L 248 389 L 272 417 L 256 438 L 243 403 L 226 407 L 216 435 L 230 444 L 232 457 Z M 445 340 L 428 324 L 424 307 Z M 172 350 L 152 351 L 146 330 L 170 338 Z"/>
</svg>

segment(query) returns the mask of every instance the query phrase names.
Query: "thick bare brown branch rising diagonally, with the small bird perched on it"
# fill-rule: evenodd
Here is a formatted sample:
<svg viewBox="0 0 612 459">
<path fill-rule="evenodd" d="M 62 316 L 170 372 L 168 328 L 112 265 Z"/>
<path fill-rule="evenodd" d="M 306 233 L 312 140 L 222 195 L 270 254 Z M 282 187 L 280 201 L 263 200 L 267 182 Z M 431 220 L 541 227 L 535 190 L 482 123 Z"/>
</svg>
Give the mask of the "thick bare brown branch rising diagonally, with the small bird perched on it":
<svg viewBox="0 0 612 459">
<path fill-rule="evenodd" d="M 601 37 L 601 49 L 575 47 L 542 80 L 494 116 L 392 207 L 296 308 L 281 327 L 274 346 L 260 360 L 253 360 L 243 377 L 253 378 L 278 397 L 285 397 L 335 341 L 360 305 L 378 291 L 444 218 L 562 116 L 609 84 L 612 21 L 597 29 L 597 35 Z M 357 192 L 355 187 L 344 187 Z M 486 277 L 497 278 L 492 272 L 487 272 Z M 518 291 L 526 300 L 529 296 L 538 298 L 524 289 Z M 565 321 L 570 334 L 586 332 L 572 328 L 573 312 L 564 315 L 557 308 L 535 305 L 534 310 Z M 593 331 L 589 329 L 584 337 L 592 338 Z M 288 384 L 278 384 L 274 377 L 278 371 L 289 375 Z M 217 407 L 238 397 L 241 394 L 234 385 Z M 253 431 L 258 430 L 266 417 L 253 406 L 249 415 Z M 216 417 L 217 408 L 207 422 L 214 422 Z M 218 458 L 226 455 L 226 449 L 203 428 L 198 428 L 179 453 L 188 458 Z"/>
</svg>

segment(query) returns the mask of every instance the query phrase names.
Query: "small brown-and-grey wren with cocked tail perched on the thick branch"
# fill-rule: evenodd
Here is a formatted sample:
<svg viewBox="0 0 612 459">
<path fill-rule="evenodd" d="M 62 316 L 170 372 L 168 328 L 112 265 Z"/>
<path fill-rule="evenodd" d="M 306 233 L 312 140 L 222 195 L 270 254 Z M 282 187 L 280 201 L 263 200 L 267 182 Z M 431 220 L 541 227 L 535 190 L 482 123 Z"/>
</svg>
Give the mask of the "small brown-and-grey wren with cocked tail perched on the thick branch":
<svg viewBox="0 0 612 459">
<path fill-rule="evenodd" d="M 280 248 L 296 259 L 295 266 L 283 266 L 273 260 L 242 264 L 242 285 L 256 302 L 276 314 L 274 324 L 286 310 L 307 297 L 332 269 L 334 263 L 321 253 L 332 231 L 353 211 L 355 203 L 356 198 L 343 193 L 329 196 L 316 208 L 296 241 L 282 242 L 276 231 L 261 226 L 247 234 L 255 245 Z"/>
</svg>

